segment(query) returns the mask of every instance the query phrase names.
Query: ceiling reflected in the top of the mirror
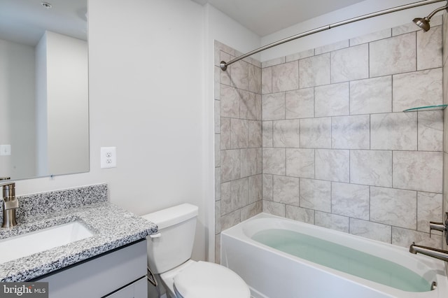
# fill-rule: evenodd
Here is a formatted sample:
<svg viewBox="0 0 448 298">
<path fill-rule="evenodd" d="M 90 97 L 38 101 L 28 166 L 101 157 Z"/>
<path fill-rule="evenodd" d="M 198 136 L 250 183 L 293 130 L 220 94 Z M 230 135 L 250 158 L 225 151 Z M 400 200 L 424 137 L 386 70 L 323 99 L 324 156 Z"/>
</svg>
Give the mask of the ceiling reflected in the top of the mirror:
<svg viewBox="0 0 448 298">
<path fill-rule="evenodd" d="M 0 39 L 36 45 L 45 30 L 87 40 L 87 0 L 0 0 Z"/>
</svg>

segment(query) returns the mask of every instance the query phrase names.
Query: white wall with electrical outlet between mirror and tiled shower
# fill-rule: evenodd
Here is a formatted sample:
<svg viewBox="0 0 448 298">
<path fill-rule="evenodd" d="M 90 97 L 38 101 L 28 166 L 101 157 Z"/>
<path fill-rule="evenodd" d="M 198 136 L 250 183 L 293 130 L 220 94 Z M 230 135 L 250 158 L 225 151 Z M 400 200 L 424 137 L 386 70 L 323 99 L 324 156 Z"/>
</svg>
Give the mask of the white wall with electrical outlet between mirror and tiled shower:
<svg viewBox="0 0 448 298">
<path fill-rule="evenodd" d="M 138 215 L 197 204 L 204 259 L 203 8 L 90 1 L 88 34 L 90 171 L 20 180 L 16 193 L 108 183 L 110 201 Z M 116 146 L 115 169 L 99 169 L 102 146 Z"/>
</svg>

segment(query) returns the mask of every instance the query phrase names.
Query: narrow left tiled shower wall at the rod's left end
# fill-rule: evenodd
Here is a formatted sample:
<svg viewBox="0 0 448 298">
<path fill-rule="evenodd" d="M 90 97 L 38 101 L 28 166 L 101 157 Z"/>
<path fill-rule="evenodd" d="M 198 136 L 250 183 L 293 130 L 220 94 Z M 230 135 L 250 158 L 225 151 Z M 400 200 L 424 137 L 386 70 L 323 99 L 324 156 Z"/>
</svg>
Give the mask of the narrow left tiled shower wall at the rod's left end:
<svg viewBox="0 0 448 298">
<path fill-rule="evenodd" d="M 262 211 L 261 65 L 215 42 L 215 250 L 221 230 Z"/>
</svg>

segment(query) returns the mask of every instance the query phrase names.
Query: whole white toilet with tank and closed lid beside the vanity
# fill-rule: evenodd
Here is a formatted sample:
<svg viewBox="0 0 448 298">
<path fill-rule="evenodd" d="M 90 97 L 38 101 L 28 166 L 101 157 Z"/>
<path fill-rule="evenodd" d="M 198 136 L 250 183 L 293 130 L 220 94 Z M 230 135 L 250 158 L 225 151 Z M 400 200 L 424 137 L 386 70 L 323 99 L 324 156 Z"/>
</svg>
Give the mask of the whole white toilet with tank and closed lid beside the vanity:
<svg viewBox="0 0 448 298">
<path fill-rule="evenodd" d="M 148 267 L 159 274 L 170 298 L 250 298 L 248 285 L 227 267 L 190 260 L 197 206 L 181 204 L 142 216 L 158 225 L 146 238 Z"/>
</svg>

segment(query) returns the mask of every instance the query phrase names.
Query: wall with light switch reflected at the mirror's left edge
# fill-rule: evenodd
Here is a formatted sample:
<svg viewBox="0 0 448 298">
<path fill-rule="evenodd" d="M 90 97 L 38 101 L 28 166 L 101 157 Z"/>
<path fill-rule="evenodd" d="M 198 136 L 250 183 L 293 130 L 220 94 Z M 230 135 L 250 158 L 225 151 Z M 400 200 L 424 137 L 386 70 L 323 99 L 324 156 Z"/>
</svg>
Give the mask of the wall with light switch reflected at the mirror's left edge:
<svg viewBox="0 0 448 298">
<path fill-rule="evenodd" d="M 0 177 L 34 176 L 34 49 L 0 39 Z M 14 117 L 11 117 L 14 115 Z"/>
</svg>

